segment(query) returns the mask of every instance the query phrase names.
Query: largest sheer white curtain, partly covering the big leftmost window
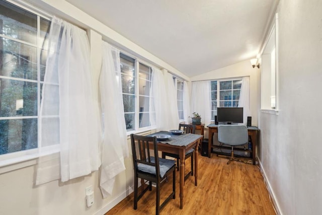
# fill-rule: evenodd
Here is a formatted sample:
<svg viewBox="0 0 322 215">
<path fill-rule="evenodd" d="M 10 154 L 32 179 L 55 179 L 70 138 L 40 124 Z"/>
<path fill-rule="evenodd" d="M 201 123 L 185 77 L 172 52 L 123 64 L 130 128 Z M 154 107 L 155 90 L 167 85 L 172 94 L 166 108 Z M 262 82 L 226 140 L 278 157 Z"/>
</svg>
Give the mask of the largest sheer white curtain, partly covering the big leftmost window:
<svg viewBox="0 0 322 215">
<path fill-rule="evenodd" d="M 59 144 L 60 156 L 39 160 L 36 184 L 57 177 L 68 181 L 88 175 L 101 165 L 99 115 L 92 84 L 86 32 L 54 17 L 39 126 L 40 148 Z M 60 164 L 57 164 L 59 157 Z"/>
</svg>

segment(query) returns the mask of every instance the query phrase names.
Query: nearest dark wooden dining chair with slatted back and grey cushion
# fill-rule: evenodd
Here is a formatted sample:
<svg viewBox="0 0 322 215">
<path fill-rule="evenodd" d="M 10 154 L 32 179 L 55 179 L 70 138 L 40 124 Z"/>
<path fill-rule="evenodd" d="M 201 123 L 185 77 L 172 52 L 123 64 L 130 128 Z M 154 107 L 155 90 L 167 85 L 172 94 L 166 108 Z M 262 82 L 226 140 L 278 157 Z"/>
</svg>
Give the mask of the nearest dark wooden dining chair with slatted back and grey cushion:
<svg viewBox="0 0 322 215">
<path fill-rule="evenodd" d="M 149 144 L 153 145 L 152 147 Z M 156 137 L 140 136 L 131 134 L 131 146 L 134 165 L 134 209 L 137 208 L 138 200 L 149 189 L 152 190 L 152 182 L 156 184 L 156 207 L 155 214 L 159 214 L 160 209 L 171 199 L 176 198 L 176 161 L 158 158 Z M 150 155 L 153 150 L 152 155 Z M 168 175 L 173 173 L 173 191 L 167 199 L 160 205 L 160 185 L 168 181 Z M 141 178 L 142 191 L 138 195 L 138 178 Z M 149 181 L 149 185 L 144 188 L 144 180 Z"/>
</svg>

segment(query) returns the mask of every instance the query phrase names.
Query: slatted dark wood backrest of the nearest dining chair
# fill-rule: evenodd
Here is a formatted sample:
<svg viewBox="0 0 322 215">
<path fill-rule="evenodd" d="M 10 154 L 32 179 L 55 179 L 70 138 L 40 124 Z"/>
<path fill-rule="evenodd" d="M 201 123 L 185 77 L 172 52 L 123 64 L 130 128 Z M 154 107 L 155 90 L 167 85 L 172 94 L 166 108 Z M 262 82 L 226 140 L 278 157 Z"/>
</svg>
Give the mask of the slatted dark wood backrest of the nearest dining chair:
<svg viewBox="0 0 322 215">
<path fill-rule="evenodd" d="M 137 142 L 137 145 L 135 142 Z M 153 142 L 153 155 L 150 155 L 149 142 Z M 144 168 L 147 172 L 154 172 L 156 176 L 159 176 L 160 170 L 156 137 L 131 134 L 131 146 L 135 174 L 140 169 L 138 165 L 143 164 L 140 165 L 141 168 Z"/>
</svg>

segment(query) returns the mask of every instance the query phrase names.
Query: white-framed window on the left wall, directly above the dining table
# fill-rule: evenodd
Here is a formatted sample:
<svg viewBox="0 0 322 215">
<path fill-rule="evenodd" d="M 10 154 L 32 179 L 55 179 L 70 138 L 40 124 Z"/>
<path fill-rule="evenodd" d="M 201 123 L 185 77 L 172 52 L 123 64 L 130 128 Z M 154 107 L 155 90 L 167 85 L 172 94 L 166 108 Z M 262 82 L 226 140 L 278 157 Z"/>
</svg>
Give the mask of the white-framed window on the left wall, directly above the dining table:
<svg viewBox="0 0 322 215">
<path fill-rule="evenodd" d="M 149 127 L 152 68 L 123 53 L 120 62 L 126 129 Z"/>
</svg>

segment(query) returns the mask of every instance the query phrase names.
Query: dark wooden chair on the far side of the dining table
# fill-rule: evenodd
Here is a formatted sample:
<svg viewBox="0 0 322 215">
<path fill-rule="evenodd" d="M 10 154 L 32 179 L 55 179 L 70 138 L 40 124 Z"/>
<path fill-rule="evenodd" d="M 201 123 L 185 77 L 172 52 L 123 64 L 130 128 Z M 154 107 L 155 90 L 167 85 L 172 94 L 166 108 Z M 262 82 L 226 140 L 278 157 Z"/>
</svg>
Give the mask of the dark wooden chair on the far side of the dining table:
<svg viewBox="0 0 322 215">
<path fill-rule="evenodd" d="M 196 131 L 196 125 L 192 125 L 192 124 L 179 124 L 179 130 L 183 130 L 184 133 L 195 133 Z M 193 165 L 194 165 L 194 149 L 191 149 L 189 151 L 186 152 L 185 155 L 185 160 L 187 160 L 188 158 L 191 158 L 191 171 L 189 173 L 187 173 L 187 175 L 185 175 L 185 181 L 187 180 L 187 178 L 190 176 L 190 174 L 193 176 Z M 162 157 L 166 158 L 166 156 L 172 157 L 172 158 L 176 158 L 177 159 L 177 170 L 179 171 L 179 155 L 177 154 L 172 154 L 172 153 L 166 153 L 166 152 L 162 152 Z"/>
</svg>

